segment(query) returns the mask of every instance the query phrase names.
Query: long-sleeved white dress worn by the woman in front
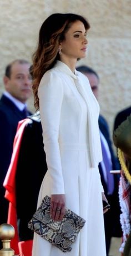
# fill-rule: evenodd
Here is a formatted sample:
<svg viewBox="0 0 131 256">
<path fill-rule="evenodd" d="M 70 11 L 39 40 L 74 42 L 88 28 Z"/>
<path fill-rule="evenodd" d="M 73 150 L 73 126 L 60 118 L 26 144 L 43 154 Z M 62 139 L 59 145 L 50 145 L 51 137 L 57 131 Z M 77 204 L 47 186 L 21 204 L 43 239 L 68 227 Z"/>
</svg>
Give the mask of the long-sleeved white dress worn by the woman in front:
<svg viewBox="0 0 131 256">
<path fill-rule="evenodd" d="M 66 206 L 86 222 L 69 253 L 34 234 L 32 256 L 105 256 L 99 107 L 88 79 L 58 61 L 44 74 L 38 96 L 48 165 L 38 206 L 46 195 L 65 193 Z"/>
</svg>

